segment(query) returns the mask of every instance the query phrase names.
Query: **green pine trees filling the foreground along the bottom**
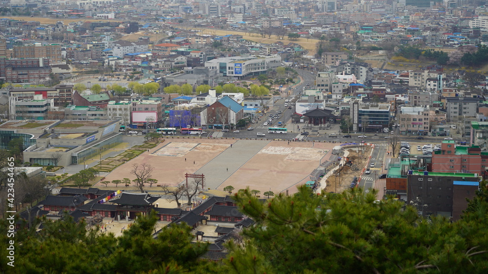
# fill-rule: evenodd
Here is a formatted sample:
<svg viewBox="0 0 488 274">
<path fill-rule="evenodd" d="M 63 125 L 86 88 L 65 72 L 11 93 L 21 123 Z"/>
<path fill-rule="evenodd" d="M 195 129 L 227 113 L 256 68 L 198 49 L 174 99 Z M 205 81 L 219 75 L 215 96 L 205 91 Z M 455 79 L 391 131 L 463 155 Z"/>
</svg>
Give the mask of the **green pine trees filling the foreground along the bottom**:
<svg viewBox="0 0 488 274">
<path fill-rule="evenodd" d="M 43 229 L 16 234 L 16 268 L 6 265 L 6 234 L 0 237 L 5 273 L 485 273 L 488 267 L 488 190 L 482 182 L 460 220 L 424 219 L 418 208 L 376 190 L 315 194 L 302 186 L 294 195 L 266 201 L 246 189 L 234 199 L 255 221 L 236 229 L 222 260 L 205 260 L 208 243 L 193 243 L 184 224 L 166 226 L 157 237 L 153 212 L 140 216 L 121 237 L 87 228 L 65 215 Z M 40 219 L 37 219 L 39 221 Z M 0 226 L 7 230 L 5 219 Z"/>
</svg>

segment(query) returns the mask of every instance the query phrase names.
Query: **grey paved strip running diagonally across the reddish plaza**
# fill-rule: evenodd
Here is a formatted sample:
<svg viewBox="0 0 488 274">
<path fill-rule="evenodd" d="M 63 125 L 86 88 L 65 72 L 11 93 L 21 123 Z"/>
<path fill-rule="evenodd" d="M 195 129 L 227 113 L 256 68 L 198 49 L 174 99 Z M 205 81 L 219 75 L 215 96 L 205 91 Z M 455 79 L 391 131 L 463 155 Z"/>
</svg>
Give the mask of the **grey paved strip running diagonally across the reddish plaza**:
<svg viewBox="0 0 488 274">
<path fill-rule="evenodd" d="M 205 175 L 205 187 L 217 189 L 268 143 L 269 141 L 239 140 L 195 171 L 195 174 Z"/>
</svg>

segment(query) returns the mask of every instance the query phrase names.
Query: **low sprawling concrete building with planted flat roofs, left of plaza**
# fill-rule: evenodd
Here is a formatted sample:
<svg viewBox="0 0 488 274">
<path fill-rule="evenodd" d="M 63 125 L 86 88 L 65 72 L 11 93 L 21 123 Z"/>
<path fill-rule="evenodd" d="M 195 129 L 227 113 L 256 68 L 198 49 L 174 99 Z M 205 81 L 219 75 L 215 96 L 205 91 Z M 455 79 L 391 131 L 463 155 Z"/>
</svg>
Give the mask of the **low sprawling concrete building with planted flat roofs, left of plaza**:
<svg viewBox="0 0 488 274">
<path fill-rule="evenodd" d="M 38 124 L 38 127 L 33 127 Z M 24 141 L 24 162 L 41 165 L 82 164 L 122 143 L 120 122 L 109 120 L 10 120 L 0 125 L 0 147 Z"/>
</svg>

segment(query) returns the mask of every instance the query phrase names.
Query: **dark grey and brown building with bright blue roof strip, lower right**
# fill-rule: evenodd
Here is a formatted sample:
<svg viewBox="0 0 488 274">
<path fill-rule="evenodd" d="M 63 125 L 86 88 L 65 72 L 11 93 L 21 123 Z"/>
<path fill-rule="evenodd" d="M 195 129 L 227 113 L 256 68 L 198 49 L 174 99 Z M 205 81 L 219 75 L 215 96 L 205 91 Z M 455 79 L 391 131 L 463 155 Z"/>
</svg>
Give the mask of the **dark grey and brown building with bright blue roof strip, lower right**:
<svg viewBox="0 0 488 274">
<path fill-rule="evenodd" d="M 423 217 L 440 215 L 458 220 L 479 188 L 476 173 L 413 171 L 407 176 L 407 204 Z"/>
</svg>

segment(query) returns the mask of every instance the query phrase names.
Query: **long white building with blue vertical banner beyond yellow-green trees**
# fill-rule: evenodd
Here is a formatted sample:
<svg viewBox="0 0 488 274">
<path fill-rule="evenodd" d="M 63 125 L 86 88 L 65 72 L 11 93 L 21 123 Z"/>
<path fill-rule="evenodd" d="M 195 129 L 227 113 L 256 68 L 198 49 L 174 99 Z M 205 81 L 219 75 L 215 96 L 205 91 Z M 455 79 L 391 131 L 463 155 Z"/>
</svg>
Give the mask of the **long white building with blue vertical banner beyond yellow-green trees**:
<svg viewBox="0 0 488 274">
<path fill-rule="evenodd" d="M 246 76 L 266 73 L 269 69 L 281 66 L 280 56 L 233 56 L 223 57 L 205 62 L 205 67 L 219 70 L 224 76 L 233 76 L 242 79 Z"/>
</svg>

